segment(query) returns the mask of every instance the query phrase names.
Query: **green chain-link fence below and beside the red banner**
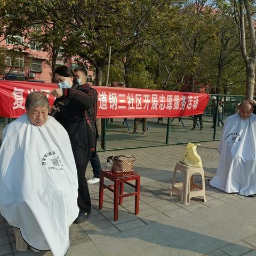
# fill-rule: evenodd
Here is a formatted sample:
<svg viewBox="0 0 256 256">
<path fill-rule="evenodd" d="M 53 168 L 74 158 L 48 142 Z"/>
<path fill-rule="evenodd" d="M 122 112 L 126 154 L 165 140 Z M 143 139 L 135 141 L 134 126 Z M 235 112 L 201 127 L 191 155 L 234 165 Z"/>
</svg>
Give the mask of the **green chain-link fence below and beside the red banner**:
<svg viewBox="0 0 256 256">
<path fill-rule="evenodd" d="M 217 122 L 215 129 L 211 128 L 213 126 L 214 113 L 213 96 L 217 97 L 217 102 L 222 100 L 221 117 L 223 121 L 228 116 L 236 113 L 238 103 L 244 100 L 244 96 L 241 95 L 212 94 L 203 115 L 203 130 L 199 129 L 198 120 L 195 130 L 191 130 L 193 127 L 193 116 L 163 118 L 159 121 L 158 118 L 147 118 L 146 134 L 142 133 L 141 122 L 138 123 L 137 133 L 132 133 L 134 118 L 102 119 L 101 125 L 99 125 L 98 151 L 218 140 L 221 136 L 222 125 Z M 4 126 L 10 121 L 10 118 L 0 118 L 1 138 Z"/>
</svg>

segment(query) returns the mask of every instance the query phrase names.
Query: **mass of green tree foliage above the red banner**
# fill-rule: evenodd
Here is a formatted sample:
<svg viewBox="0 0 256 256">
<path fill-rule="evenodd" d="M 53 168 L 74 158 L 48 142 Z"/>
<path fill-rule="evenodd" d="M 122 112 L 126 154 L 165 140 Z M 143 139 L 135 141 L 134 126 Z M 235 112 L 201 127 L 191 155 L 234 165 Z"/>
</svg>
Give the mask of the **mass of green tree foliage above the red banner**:
<svg viewBox="0 0 256 256">
<path fill-rule="evenodd" d="M 22 35 L 49 53 L 90 62 L 96 83 L 179 90 L 208 84 L 238 92 L 245 81 L 239 37 L 228 1 L 0 0 L 3 36 Z M 218 7 L 218 8 L 217 8 Z M 63 47 L 63 49 L 62 49 Z M 17 49 L 25 49 L 19 45 Z M 234 89 L 234 90 L 233 90 Z"/>
</svg>

